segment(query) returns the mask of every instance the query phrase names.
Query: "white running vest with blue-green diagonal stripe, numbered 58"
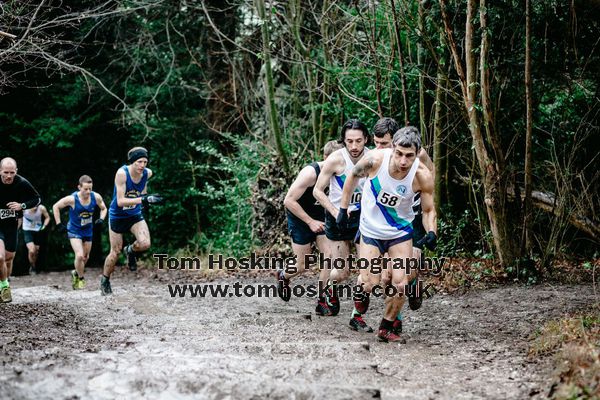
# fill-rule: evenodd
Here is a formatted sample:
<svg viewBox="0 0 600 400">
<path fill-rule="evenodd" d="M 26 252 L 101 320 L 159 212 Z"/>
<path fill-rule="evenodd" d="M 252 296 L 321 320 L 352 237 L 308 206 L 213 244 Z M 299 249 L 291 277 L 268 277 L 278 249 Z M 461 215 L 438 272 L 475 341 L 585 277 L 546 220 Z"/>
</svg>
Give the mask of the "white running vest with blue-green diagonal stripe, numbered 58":
<svg viewBox="0 0 600 400">
<path fill-rule="evenodd" d="M 412 184 L 419 168 L 415 159 L 404 179 L 390 176 L 392 149 L 384 150 L 377 174 L 365 183 L 360 215 L 360 233 L 372 239 L 398 239 L 413 232 L 415 218 Z"/>
</svg>

